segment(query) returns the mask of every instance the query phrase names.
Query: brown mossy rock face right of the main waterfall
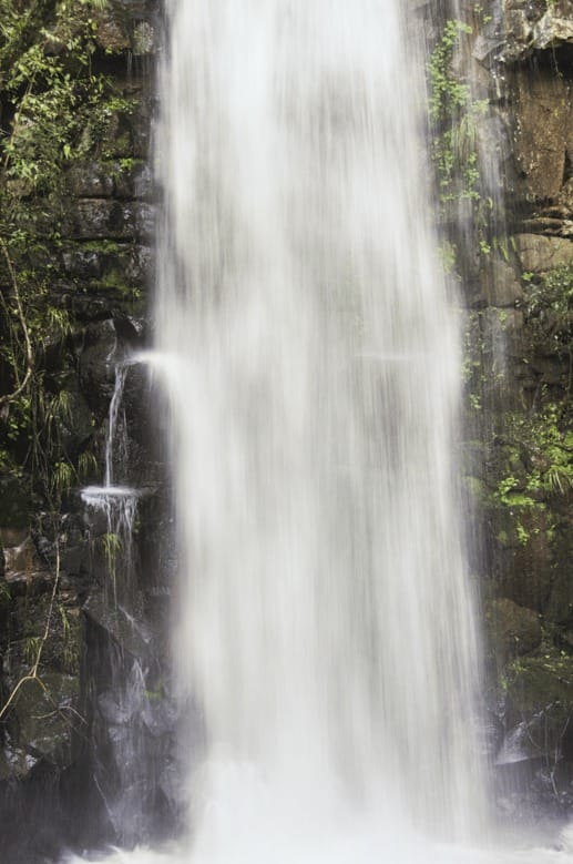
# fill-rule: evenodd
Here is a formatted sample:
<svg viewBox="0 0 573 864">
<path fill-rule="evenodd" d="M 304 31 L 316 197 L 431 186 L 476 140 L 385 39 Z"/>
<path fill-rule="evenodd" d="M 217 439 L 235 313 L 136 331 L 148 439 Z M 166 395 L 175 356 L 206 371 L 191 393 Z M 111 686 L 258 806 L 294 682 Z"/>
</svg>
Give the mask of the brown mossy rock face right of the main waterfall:
<svg viewBox="0 0 573 864">
<path fill-rule="evenodd" d="M 457 9 L 471 33 L 452 67 L 495 130 L 474 139 L 479 192 L 450 234 L 467 304 L 472 562 L 500 805 L 540 817 L 573 809 L 573 3 Z"/>
</svg>

